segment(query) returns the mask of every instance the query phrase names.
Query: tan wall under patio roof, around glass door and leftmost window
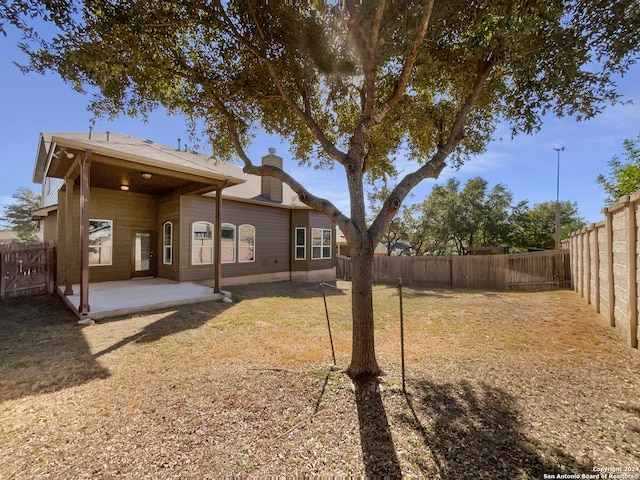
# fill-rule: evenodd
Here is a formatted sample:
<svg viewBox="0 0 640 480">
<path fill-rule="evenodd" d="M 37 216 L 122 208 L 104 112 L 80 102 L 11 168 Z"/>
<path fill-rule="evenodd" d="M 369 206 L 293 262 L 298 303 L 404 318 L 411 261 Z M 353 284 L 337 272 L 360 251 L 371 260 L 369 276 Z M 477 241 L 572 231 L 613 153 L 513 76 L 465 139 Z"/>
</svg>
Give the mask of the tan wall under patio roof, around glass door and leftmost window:
<svg viewBox="0 0 640 480">
<path fill-rule="evenodd" d="M 60 191 L 58 205 L 60 210 L 65 209 L 65 192 Z M 73 205 L 69 210 L 72 215 L 73 232 L 80 231 L 80 189 L 75 187 L 73 191 Z M 92 188 L 89 197 L 89 216 L 91 219 L 113 221 L 112 238 L 112 264 L 91 266 L 89 268 L 89 281 L 103 282 L 109 280 L 127 280 L 133 276 L 133 236 L 136 231 L 152 231 L 157 228 L 158 199 L 151 195 L 142 195 L 116 190 L 103 190 Z M 64 215 L 58 215 L 58 279 L 65 278 L 60 272 L 65 273 L 66 266 L 66 238 Z M 74 235 L 71 239 L 74 253 L 71 261 L 70 275 L 73 283 L 80 281 L 80 235 Z M 157 247 L 156 247 L 157 248 Z M 155 256 L 158 260 L 158 256 Z"/>
</svg>

